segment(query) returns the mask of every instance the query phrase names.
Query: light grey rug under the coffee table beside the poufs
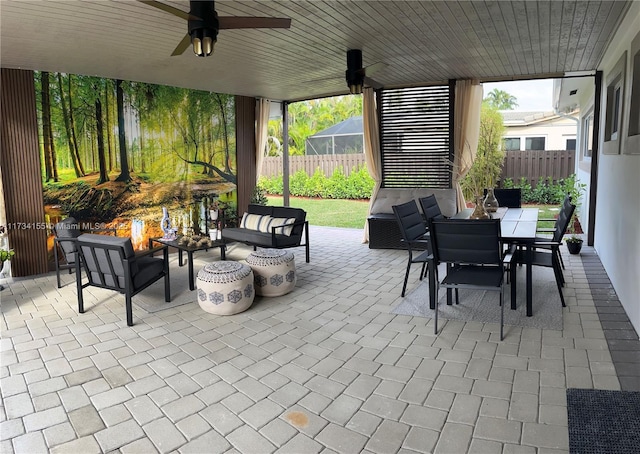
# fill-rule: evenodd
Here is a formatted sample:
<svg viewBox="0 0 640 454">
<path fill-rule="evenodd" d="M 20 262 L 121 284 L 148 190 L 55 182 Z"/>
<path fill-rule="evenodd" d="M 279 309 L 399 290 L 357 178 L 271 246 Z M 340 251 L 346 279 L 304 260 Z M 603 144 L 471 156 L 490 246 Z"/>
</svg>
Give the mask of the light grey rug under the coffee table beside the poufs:
<svg viewBox="0 0 640 454">
<path fill-rule="evenodd" d="M 194 257 L 194 280 L 198 276 L 198 271 L 208 263 L 205 258 L 199 258 L 198 256 Z M 211 258 L 209 258 L 209 261 L 211 261 Z M 171 286 L 171 302 L 167 303 L 164 300 L 164 279 L 160 279 L 135 295 L 132 298 L 133 304 L 149 313 L 185 304 L 197 304 L 197 290 L 189 290 L 189 267 L 187 266 L 187 254 L 184 255 L 184 266 L 178 266 L 178 254 L 171 254 L 169 256 L 169 283 Z"/>
</svg>

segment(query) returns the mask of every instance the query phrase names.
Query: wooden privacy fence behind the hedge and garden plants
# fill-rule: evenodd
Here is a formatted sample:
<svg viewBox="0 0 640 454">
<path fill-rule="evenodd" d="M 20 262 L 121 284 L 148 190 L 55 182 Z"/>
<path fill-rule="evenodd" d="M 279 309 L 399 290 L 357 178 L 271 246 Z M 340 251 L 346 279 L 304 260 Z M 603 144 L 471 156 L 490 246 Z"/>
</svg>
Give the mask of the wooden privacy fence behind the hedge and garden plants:
<svg viewBox="0 0 640 454">
<path fill-rule="evenodd" d="M 574 150 L 507 151 L 501 179 L 511 178 L 517 183 L 524 177 L 532 187 L 536 186 L 540 177 L 551 177 L 557 181 L 574 173 L 575 155 Z M 348 176 L 353 169 L 364 165 L 362 153 L 289 157 L 290 175 L 302 169 L 311 176 L 316 169 L 320 169 L 325 176 L 330 177 L 338 167 L 342 167 L 344 174 Z M 280 174 L 282 158 L 264 158 L 261 175 L 274 177 Z"/>
</svg>

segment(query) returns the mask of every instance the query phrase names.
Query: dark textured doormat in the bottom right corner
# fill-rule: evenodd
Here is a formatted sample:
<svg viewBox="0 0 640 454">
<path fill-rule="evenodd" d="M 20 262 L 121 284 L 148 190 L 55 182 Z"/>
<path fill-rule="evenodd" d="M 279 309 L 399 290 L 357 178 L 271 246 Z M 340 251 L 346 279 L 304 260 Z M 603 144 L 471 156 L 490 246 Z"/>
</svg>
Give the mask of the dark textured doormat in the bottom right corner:
<svg viewBox="0 0 640 454">
<path fill-rule="evenodd" d="M 640 392 L 567 389 L 572 454 L 640 452 Z"/>
</svg>

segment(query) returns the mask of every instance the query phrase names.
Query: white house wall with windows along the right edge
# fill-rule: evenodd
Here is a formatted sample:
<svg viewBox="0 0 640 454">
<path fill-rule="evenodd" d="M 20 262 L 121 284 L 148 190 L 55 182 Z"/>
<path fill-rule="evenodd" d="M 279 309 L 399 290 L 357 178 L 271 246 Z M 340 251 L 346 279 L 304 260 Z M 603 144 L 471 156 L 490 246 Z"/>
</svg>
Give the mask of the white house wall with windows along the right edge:
<svg viewBox="0 0 640 454">
<path fill-rule="evenodd" d="M 633 2 L 598 69 L 607 79 L 621 55 L 627 52 L 621 132 L 627 136 L 631 98 L 631 41 L 640 30 L 640 2 Z M 590 98 L 593 103 L 593 94 Z M 600 150 L 603 150 L 606 90 L 602 90 Z M 587 106 L 588 108 L 588 103 Z M 581 112 L 586 110 L 581 106 Z M 640 155 L 629 155 L 623 140 L 618 155 L 598 156 L 598 193 L 596 198 L 595 249 L 611 279 L 631 323 L 640 332 Z M 632 145 L 631 145 L 632 146 Z M 637 152 L 637 150 L 635 150 Z M 578 164 L 579 167 L 579 164 Z M 579 169 L 584 175 L 584 170 Z M 588 175 L 585 178 L 588 180 Z"/>
</svg>

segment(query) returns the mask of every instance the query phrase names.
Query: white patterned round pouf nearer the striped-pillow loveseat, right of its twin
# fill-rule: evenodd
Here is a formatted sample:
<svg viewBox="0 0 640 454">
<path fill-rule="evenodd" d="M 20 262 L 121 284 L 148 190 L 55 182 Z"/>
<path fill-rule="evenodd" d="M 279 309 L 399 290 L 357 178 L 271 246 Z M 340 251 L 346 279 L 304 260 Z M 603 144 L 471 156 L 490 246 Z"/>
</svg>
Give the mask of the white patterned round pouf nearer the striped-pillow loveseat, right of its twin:
<svg viewBox="0 0 640 454">
<path fill-rule="evenodd" d="M 253 270 L 256 294 L 280 296 L 296 286 L 296 263 L 293 254 L 281 249 L 258 249 L 247 257 Z"/>
</svg>

